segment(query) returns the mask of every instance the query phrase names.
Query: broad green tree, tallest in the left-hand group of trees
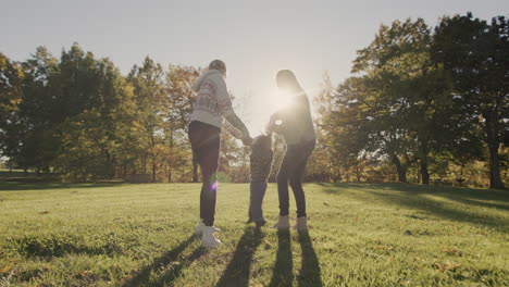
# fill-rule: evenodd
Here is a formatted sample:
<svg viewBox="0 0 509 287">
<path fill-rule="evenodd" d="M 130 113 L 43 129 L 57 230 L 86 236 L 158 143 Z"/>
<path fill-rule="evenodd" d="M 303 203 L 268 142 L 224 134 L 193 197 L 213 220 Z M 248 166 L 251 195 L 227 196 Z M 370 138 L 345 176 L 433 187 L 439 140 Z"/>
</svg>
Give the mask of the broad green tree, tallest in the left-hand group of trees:
<svg viewBox="0 0 509 287">
<path fill-rule="evenodd" d="M 77 45 L 62 53 L 60 66 L 59 90 L 71 93 L 59 95 L 57 107 L 77 107 L 58 125 L 55 170 L 73 182 L 111 178 L 119 164 L 129 161 L 126 147 L 133 146 L 137 126 L 133 88 L 110 60 L 96 60 Z"/>
</svg>

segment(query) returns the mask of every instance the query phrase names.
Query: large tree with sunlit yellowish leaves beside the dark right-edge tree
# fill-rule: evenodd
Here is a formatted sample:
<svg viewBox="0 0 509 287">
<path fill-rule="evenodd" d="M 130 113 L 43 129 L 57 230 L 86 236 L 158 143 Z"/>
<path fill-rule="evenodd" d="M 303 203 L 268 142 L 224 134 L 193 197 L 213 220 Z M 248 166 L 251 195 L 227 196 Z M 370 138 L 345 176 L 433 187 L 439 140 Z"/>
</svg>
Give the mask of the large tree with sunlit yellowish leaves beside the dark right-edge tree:
<svg viewBox="0 0 509 287">
<path fill-rule="evenodd" d="M 352 72 L 363 76 L 361 103 L 367 128 L 376 132 L 370 136 L 374 147 L 383 147 L 394 162 L 401 182 L 406 166 L 418 160 L 421 180 L 430 183 L 429 157 L 450 140 L 444 125 L 450 115 L 452 97 L 447 75 L 430 57 L 431 32 L 422 18 L 395 21 L 382 25 L 373 42 L 358 52 Z M 402 154 L 407 163 L 401 164 Z M 409 155 L 410 154 L 410 155 Z M 412 159 L 413 158 L 413 159 Z"/>
</svg>

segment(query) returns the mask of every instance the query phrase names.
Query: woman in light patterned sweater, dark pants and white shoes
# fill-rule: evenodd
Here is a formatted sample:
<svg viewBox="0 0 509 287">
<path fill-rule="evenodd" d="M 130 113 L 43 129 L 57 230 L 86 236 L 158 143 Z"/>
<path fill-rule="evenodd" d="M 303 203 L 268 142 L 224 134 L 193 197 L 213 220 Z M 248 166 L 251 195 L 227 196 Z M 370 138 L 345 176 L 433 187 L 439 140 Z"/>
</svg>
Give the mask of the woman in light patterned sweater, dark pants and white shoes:
<svg viewBox="0 0 509 287">
<path fill-rule="evenodd" d="M 241 139 L 245 145 L 251 142 L 249 130 L 232 108 L 225 77 L 226 65 L 223 61 L 214 60 L 210 63 L 209 71 L 193 84 L 193 89 L 198 92 L 198 96 L 193 104 L 188 133 L 193 152 L 198 159 L 203 177 L 200 194 L 200 222 L 195 234 L 201 235 L 201 245 L 207 248 L 221 244 L 214 236 L 214 233 L 219 230 L 214 227 L 214 215 L 220 136 L 224 118 L 237 129 L 238 133 L 232 133 L 234 136 Z"/>
</svg>

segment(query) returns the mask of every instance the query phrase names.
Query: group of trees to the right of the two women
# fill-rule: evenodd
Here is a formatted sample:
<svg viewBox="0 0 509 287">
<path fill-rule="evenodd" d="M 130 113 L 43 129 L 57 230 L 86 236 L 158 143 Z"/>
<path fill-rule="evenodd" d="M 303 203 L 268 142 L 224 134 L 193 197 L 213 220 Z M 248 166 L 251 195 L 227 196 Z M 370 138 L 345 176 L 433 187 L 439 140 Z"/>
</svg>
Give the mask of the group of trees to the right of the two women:
<svg viewBox="0 0 509 287">
<path fill-rule="evenodd" d="M 326 177 L 504 188 L 508 24 L 468 13 L 434 28 L 422 18 L 382 25 L 353 76 L 337 88 L 326 79 L 318 97 Z"/>
</svg>

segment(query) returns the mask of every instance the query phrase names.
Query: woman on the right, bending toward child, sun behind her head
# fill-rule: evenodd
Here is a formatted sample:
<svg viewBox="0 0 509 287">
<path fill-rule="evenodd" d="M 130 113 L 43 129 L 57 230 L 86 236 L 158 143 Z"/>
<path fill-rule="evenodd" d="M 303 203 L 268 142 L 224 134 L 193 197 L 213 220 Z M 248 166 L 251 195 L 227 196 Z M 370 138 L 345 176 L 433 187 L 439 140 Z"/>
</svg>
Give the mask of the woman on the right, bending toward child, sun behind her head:
<svg viewBox="0 0 509 287">
<path fill-rule="evenodd" d="M 271 116 L 268 132 L 282 134 L 286 142 L 286 153 L 277 172 L 277 194 L 280 219 L 273 227 L 289 228 L 288 183 L 297 203 L 297 230 L 307 230 L 306 196 L 302 189 L 302 175 L 309 155 L 316 144 L 308 96 L 300 87 L 294 73 L 282 70 L 276 76 L 277 87 L 291 95 L 291 103 Z"/>
</svg>

